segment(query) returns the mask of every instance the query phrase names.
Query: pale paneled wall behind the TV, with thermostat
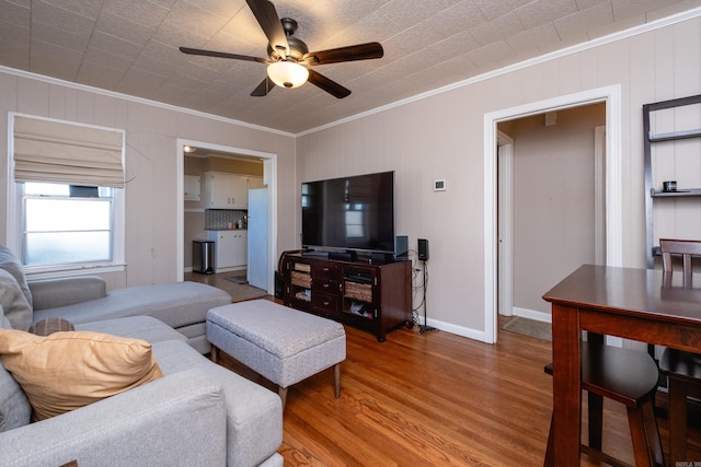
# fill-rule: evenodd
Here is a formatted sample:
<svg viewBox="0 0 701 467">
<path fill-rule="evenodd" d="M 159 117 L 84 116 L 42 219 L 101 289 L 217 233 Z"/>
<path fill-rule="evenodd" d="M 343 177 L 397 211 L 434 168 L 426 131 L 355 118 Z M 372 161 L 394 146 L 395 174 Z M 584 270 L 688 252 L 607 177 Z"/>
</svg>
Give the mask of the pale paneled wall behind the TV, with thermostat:
<svg viewBox="0 0 701 467">
<path fill-rule="evenodd" d="M 642 105 L 701 93 L 700 56 L 701 20 L 696 17 L 486 77 L 299 137 L 298 178 L 394 170 L 398 232 L 410 236 L 410 245 L 417 237 L 430 242 L 429 323 L 480 335 L 485 330 L 484 115 L 620 84 L 623 264 L 645 267 Z M 447 191 L 433 191 L 436 178 L 447 179 Z M 299 199 L 299 184 L 297 191 Z M 299 215 L 296 221 L 299 231 Z"/>
</svg>

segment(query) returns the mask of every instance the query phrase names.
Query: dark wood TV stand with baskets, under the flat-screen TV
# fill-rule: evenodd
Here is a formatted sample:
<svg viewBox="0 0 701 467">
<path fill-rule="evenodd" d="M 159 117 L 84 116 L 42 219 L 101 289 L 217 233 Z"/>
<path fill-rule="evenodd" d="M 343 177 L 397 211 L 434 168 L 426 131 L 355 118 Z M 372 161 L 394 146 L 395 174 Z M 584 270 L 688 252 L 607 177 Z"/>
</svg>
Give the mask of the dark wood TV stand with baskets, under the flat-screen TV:
<svg viewBox="0 0 701 467">
<path fill-rule="evenodd" d="M 411 261 L 371 261 L 289 255 L 283 261 L 285 305 L 372 332 L 412 327 Z"/>
</svg>

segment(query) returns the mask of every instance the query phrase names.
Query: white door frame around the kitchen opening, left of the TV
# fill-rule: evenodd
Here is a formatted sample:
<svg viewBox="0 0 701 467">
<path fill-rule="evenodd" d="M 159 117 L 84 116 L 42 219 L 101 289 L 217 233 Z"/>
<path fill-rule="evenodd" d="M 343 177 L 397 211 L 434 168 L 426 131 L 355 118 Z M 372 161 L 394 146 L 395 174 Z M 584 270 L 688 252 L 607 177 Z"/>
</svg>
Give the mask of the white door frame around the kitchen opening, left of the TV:
<svg viewBox="0 0 701 467">
<path fill-rule="evenodd" d="M 268 194 L 271 197 L 268 209 L 268 271 L 267 275 L 267 290 L 271 295 L 275 294 L 275 275 L 277 269 L 277 154 L 271 152 L 255 151 L 245 148 L 234 148 L 205 141 L 194 141 L 186 139 L 177 139 L 176 147 L 176 165 L 177 165 L 177 242 L 181 248 L 176 252 L 177 262 L 177 280 L 182 281 L 185 277 L 185 253 L 182 246 L 185 242 L 185 203 L 183 202 L 185 196 L 185 147 L 191 145 L 195 148 L 207 149 L 216 152 L 227 152 L 237 155 L 249 156 L 252 159 L 258 159 L 263 161 L 263 183 L 267 185 Z"/>
</svg>

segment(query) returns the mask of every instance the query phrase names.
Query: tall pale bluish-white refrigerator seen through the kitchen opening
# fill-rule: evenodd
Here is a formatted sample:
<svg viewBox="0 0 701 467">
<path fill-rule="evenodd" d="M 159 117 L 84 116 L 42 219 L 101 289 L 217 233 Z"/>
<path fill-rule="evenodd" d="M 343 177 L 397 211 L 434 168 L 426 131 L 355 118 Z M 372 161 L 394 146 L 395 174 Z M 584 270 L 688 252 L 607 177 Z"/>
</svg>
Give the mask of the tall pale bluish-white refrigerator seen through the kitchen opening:
<svg viewBox="0 0 701 467">
<path fill-rule="evenodd" d="M 249 190 L 249 284 L 267 291 L 273 273 L 268 253 L 269 194 L 267 188 Z"/>
</svg>

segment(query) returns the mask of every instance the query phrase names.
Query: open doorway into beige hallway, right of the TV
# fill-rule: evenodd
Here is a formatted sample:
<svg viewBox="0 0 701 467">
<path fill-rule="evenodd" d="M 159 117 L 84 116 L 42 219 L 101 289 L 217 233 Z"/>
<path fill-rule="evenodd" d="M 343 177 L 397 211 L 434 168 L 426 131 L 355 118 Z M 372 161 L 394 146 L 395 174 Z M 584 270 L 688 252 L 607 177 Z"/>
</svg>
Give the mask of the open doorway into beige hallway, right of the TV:
<svg viewBox="0 0 701 467">
<path fill-rule="evenodd" d="M 595 128 L 605 120 L 606 105 L 594 103 L 498 124 L 499 315 L 549 323 L 542 293 L 605 253 L 595 209 L 605 199 Z"/>
</svg>

